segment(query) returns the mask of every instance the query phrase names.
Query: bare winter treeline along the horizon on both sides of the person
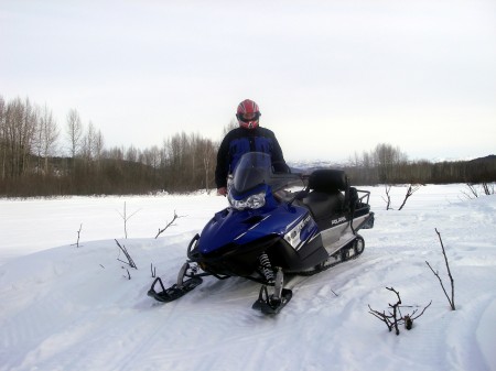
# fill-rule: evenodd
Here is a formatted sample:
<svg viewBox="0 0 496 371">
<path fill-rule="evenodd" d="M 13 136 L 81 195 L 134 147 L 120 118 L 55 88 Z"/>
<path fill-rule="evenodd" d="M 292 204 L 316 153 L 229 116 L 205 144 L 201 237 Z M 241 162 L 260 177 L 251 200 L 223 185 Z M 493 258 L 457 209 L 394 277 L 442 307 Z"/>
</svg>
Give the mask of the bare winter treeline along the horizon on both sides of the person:
<svg viewBox="0 0 496 371">
<path fill-rule="evenodd" d="M 236 123 L 231 122 L 224 131 Z M 123 195 L 215 187 L 217 142 L 179 133 L 145 150 L 106 149 L 101 132 L 71 109 L 63 129 L 52 111 L 0 96 L 0 196 Z M 470 162 L 408 161 L 399 148 L 378 144 L 345 166 L 355 185 L 489 183 L 496 156 Z"/>
</svg>

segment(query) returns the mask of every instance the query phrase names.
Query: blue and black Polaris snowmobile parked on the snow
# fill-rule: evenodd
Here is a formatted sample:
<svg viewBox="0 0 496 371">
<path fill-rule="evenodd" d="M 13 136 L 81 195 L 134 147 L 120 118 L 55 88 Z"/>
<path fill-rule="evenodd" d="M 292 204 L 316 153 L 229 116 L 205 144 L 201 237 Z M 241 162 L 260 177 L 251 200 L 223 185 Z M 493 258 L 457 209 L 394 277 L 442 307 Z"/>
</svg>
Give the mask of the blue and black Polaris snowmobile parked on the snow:
<svg viewBox="0 0 496 371">
<path fill-rule="evenodd" d="M 363 253 L 357 231 L 374 227 L 369 192 L 349 186 L 339 170 L 277 170 L 268 154 L 245 154 L 228 183 L 229 207 L 192 239 L 176 283 L 165 288 L 157 277 L 148 295 L 172 302 L 205 276 L 238 276 L 261 284 L 255 309 L 277 314 L 292 297 L 287 277 L 312 275 Z"/>
</svg>

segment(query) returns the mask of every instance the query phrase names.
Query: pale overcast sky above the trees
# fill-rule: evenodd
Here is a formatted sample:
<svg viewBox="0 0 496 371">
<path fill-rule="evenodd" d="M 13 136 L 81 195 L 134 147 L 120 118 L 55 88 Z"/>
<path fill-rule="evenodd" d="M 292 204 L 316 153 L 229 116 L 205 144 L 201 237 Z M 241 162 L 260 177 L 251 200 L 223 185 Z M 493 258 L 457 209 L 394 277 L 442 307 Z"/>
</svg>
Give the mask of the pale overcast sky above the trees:
<svg viewBox="0 0 496 371">
<path fill-rule="evenodd" d="M 106 146 L 215 141 L 260 107 L 289 161 L 378 143 L 496 154 L 495 0 L 0 0 L 0 95 L 76 109 Z"/>
</svg>

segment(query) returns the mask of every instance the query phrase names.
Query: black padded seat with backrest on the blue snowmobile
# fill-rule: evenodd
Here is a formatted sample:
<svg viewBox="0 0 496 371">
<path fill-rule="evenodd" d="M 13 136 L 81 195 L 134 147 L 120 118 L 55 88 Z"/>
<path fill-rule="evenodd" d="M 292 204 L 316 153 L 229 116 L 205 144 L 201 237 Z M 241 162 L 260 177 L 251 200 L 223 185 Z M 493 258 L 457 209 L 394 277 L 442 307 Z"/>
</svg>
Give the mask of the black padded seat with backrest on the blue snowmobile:
<svg viewBox="0 0 496 371">
<path fill-rule="evenodd" d="M 309 177 L 310 193 L 303 204 L 310 209 L 317 222 L 330 220 L 333 215 L 343 212 L 348 179 L 345 172 L 322 168 L 314 171 Z"/>
</svg>

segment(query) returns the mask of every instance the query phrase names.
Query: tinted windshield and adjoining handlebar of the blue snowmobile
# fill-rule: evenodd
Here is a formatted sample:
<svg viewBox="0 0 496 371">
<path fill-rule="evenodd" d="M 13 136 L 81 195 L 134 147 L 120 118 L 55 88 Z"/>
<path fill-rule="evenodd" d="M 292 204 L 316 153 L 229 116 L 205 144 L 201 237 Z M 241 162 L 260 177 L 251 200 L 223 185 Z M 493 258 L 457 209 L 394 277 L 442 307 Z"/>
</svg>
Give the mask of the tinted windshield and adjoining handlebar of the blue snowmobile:
<svg viewBox="0 0 496 371">
<path fill-rule="evenodd" d="M 272 187 L 272 192 L 287 187 L 301 178 L 298 174 L 274 173 L 270 154 L 261 152 L 248 152 L 241 156 L 233 174 L 233 188 L 242 194 L 260 184 Z"/>
</svg>

